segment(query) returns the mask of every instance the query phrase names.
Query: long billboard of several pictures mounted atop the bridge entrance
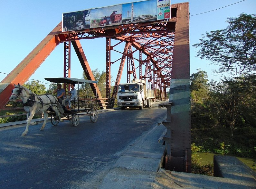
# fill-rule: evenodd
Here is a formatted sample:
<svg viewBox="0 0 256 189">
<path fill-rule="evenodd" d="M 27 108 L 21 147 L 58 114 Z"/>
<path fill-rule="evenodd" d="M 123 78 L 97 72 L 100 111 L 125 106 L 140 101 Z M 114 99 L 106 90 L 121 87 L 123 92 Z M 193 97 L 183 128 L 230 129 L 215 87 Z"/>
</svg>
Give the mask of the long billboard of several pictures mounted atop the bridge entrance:
<svg viewBox="0 0 256 189">
<path fill-rule="evenodd" d="M 62 14 L 62 32 L 170 19 L 170 0 L 147 0 Z"/>
</svg>

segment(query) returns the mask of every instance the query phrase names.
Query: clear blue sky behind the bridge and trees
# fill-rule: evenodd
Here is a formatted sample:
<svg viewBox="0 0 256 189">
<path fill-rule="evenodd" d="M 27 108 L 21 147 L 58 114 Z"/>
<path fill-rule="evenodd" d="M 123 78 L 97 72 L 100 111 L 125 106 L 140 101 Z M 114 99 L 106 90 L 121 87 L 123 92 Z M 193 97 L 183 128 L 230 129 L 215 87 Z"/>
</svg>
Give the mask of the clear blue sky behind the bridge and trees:
<svg viewBox="0 0 256 189">
<path fill-rule="evenodd" d="M 227 27 L 227 17 L 237 17 L 241 13 L 256 13 L 256 1 L 245 0 L 172 0 L 171 4 L 189 2 L 190 10 L 190 74 L 196 73 L 196 69 L 205 70 L 208 79 L 218 80 L 212 69 L 217 69 L 206 60 L 195 58 L 196 48 L 192 45 L 199 42 L 201 34 L 211 30 L 224 29 Z M 0 80 L 10 73 L 44 37 L 62 20 L 62 13 L 74 12 L 92 8 L 105 7 L 116 4 L 134 2 L 132 0 L 109 1 L 85 1 L 85 0 L 4 0 L 0 6 Z M 234 4 L 231 6 L 227 6 Z M 221 7 L 227 6 L 222 9 Z M 218 9 L 215 11 L 211 11 Z M 211 11 L 211 12 L 207 12 Z M 203 13 L 207 12 L 207 13 Z M 203 14 L 199 14 L 203 13 Z M 195 15 L 199 14 L 199 15 Z M 91 70 L 98 68 L 106 69 L 106 39 L 97 38 L 81 40 L 81 45 L 90 64 Z M 122 51 L 122 50 L 121 50 Z M 111 74 L 116 79 L 119 62 L 112 64 Z M 121 82 L 126 82 L 125 70 Z M 58 45 L 47 57 L 41 66 L 30 77 L 38 79 L 48 88 L 49 82 L 44 78 L 63 77 L 63 44 Z M 75 55 L 71 51 L 71 77 L 82 78 L 82 68 Z M 31 80 L 29 80 L 31 81 Z M 45 84 L 46 83 L 46 84 Z"/>
</svg>

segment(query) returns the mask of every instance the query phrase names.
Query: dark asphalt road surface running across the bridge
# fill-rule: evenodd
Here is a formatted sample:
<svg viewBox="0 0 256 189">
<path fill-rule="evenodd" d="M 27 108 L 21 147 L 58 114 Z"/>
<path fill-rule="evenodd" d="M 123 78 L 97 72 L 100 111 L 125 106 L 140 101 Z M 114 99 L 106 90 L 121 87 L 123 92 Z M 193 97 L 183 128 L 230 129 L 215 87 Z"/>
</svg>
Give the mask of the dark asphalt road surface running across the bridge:
<svg viewBox="0 0 256 189">
<path fill-rule="evenodd" d="M 166 108 L 99 113 L 95 123 L 68 120 L 0 128 L 0 188 L 98 188 L 118 158 L 166 116 Z"/>
</svg>

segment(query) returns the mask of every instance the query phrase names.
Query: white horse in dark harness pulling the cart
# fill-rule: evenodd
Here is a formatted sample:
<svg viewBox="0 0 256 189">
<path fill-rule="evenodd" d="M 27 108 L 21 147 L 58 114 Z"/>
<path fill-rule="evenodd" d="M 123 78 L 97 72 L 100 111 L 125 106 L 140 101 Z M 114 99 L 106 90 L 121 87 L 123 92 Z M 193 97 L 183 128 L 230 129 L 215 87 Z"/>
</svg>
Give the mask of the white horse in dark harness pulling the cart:
<svg viewBox="0 0 256 189">
<path fill-rule="evenodd" d="M 17 97 L 21 97 L 24 110 L 28 112 L 27 114 L 27 126 L 25 131 L 22 133 L 21 136 L 26 136 L 28 133 L 28 126 L 30 125 L 30 122 L 35 115 L 35 113 L 42 112 L 44 115 L 44 122 L 43 126 L 41 127 L 40 131 L 42 131 L 45 127 L 47 118 L 48 118 L 48 108 L 51 107 L 53 111 L 56 112 L 56 116 L 58 115 L 60 121 L 63 121 L 61 119 L 61 113 L 63 113 L 63 109 L 61 107 L 61 104 L 58 102 L 57 97 L 52 95 L 35 95 L 33 94 L 29 89 L 27 89 L 24 86 L 21 86 L 20 84 L 15 85 L 14 89 L 12 90 L 12 95 L 10 97 L 10 101 L 15 101 Z"/>
</svg>

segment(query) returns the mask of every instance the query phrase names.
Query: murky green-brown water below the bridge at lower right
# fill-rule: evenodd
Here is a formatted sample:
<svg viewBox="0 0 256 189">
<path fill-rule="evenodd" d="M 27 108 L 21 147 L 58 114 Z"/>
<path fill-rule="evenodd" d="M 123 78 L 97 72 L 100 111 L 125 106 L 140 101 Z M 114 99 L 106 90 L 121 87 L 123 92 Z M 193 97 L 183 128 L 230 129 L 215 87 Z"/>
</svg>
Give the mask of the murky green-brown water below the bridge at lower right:
<svg viewBox="0 0 256 189">
<path fill-rule="evenodd" d="M 207 163 L 213 163 L 213 155 L 219 155 L 214 153 L 206 153 L 206 152 L 197 152 L 199 155 L 199 158 L 202 158 L 200 163 L 201 165 L 207 164 Z M 240 161 L 242 161 L 244 164 L 246 164 L 248 167 L 252 168 L 253 165 L 253 159 L 250 158 L 240 158 L 237 157 Z"/>
</svg>

